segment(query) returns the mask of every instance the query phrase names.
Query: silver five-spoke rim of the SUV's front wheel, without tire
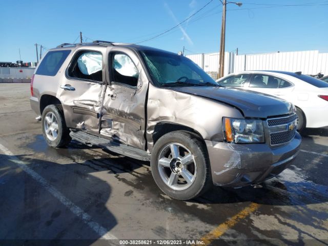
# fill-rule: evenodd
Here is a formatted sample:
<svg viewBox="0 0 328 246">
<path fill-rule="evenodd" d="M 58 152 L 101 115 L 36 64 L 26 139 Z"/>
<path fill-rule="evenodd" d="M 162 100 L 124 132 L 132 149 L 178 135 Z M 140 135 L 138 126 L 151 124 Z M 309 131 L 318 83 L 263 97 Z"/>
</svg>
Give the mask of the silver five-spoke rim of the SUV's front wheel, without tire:
<svg viewBox="0 0 328 246">
<path fill-rule="evenodd" d="M 195 181 L 194 155 L 185 146 L 173 142 L 164 146 L 157 159 L 159 176 L 173 190 L 186 190 Z"/>
</svg>

